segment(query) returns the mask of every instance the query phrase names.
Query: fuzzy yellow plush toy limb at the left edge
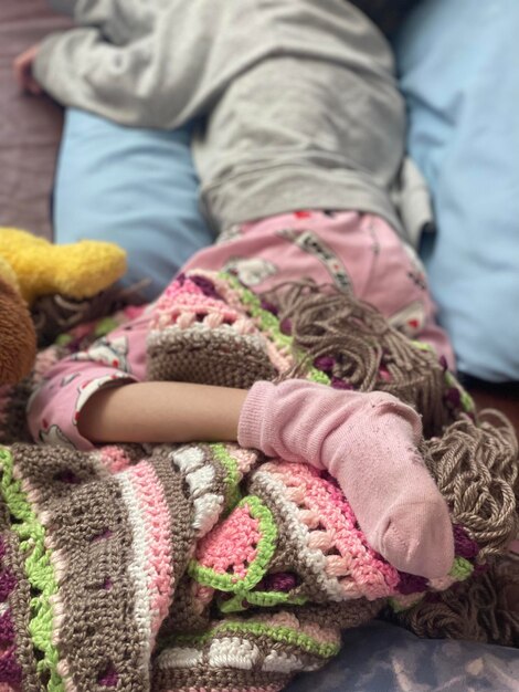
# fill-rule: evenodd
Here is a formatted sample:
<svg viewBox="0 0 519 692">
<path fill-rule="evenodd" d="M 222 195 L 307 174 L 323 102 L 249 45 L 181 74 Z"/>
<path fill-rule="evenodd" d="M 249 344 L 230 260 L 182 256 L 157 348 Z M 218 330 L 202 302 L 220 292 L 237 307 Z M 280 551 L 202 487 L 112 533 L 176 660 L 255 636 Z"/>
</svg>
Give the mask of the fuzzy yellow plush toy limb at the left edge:
<svg viewBox="0 0 519 692">
<path fill-rule="evenodd" d="M 10 264 L 30 306 L 42 295 L 89 298 L 126 272 L 126 252 L 114 243 L 83 240 L 54 245 L 13 228 L 0 228 L 0 258 Z"/>
</svg>

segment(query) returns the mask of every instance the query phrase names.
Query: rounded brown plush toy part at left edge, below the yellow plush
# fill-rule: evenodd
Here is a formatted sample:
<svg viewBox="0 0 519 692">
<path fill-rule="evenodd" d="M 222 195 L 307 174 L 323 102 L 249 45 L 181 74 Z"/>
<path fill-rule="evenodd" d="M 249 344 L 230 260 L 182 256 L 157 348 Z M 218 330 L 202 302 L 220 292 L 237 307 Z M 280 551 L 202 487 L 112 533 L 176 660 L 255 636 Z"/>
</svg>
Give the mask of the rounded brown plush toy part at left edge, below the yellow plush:
<svg viewBox="0 0 519 692">
<path fill-rule="evenodd" d="M 36 337 L 29 308 L 0 276 L 0 385 L 14 385 L 29 375 L 35 355 Z"/>
</svg>

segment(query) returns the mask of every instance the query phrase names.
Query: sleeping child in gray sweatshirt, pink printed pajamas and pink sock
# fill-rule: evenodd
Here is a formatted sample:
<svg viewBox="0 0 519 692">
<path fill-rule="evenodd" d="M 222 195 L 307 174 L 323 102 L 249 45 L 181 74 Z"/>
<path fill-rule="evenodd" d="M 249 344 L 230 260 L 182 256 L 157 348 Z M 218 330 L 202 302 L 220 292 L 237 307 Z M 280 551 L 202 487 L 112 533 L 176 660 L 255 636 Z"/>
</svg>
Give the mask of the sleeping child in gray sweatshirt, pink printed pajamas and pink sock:
<svg viewBox="0 0 519 692">
<path fill-rule="evenodd" d="M 305 461 L 338 480 L 392 565 L 445 576 L 452 525 L 417 451 L 414 409 L 384 392 L 299 379 L 263 378 L 247 390 L 150 381 L 147 371 L 149 329 L 180 284 L 197 315 L 225 321 L 192 269 L 230 271 L 261 293 L 301 279 L 332 284 L 454 365 L 392 201 L 405 117 L 383 35 L 345 0 L 55 4 L 76 25 L 22 56 L 22 82 L 133 127 L 197 118 L 201 203 L 219 242 L 133 323 L 51 369 L 29 407 L 34 439 L 78 449 L 237 440 Z M 255 329 L 246 319 L 233 326 Z"/>
</svg>

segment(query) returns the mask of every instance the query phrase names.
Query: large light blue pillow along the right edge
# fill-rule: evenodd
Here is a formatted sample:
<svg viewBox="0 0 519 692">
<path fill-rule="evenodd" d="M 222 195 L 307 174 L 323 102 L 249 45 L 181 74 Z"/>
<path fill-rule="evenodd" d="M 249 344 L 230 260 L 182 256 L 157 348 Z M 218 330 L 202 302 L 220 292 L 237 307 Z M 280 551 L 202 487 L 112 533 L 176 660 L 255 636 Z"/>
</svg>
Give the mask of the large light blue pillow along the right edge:
<svg viewBox="0 0 519 692">
<path fill-rule="evenodd" d="M 518 36 L 518 0 L 424 0 L 395 44 L 432 292 L 458 369 L 490 381 L 519 380 Z"/>
</svg>

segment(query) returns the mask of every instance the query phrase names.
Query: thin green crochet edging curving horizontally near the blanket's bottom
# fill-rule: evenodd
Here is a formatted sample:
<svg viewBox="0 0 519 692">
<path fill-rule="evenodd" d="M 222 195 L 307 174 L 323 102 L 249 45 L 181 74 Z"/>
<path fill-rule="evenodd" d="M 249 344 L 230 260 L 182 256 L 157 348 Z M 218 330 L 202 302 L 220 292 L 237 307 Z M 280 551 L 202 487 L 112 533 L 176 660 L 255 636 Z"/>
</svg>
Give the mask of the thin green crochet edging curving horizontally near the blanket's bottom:
<svg viewBox="0 0 519 692">
<path fill-rule="evenodd" d="M 203 646 L 220 635 L 254 635 L 255 637 L 268 637 L 272 641 L 278 641 L 292 647 L 297 647 L 306 653 L 318 656 L 322 659 L 337 656 L 340 650 L 338 643 L 321 643 L 303 635 L 289 627 L 272 627 L 262 622 L 222 622 L 211 628 L 203 635 L 181 635 L 173 638 L 173 644 L 199 644 Z"/>
</svg>

